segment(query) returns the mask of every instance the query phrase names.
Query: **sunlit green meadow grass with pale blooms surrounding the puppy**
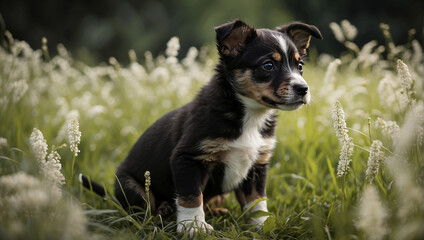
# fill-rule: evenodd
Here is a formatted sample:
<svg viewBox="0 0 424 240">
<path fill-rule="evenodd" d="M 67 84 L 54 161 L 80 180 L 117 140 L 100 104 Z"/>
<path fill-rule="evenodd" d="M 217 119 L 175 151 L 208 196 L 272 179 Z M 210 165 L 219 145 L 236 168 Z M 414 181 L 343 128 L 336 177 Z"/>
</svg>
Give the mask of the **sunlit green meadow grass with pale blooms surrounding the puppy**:
<svg viewBox="0 0 424 240">
<path fill-rule="evenodd" d="M 263 231 L 246 223 L 235 196 L 229 194 L 225 200 L 228 216 L 207 217 L 216 231 L 210 235 L 200 233 L 196 238 L 424 236 L 423 142 L 419 137 L 423 120 L 417 112 L 408 117 L 419 106 L 422 111 L 422 49 L 417 41 L 396 46 L 387 26 L 382 29 L 387 38 L 384 46 L 370 42 L 359 48 L 352 40 L 343 40 L 341 43 L 347 48 L 338 56 L 339 65 L 334 57 L 311 50 L 304 78 L 312 89 L 312 103 L 295 112 L 280 112 L 278 141 L 267 179 L 272 217 Z M 109 64 L 89 67 L 73 59 L 62 45 L 58 46 L 59 55 L 50 56 L 47 43 L 43 43 L 42 50 L 32 50 L 25 42 L 9 37 L 0 48 L 0 179 L 18 172 L 42 179 L 28 140 L 33 128 L 38 128 L 47 140 L 49 152 L 53 146 L 68 145 L 57 150 L 66 184 L 60 202 L 42 210 L 21 206 L 26 214 L 17 218 L 12 218 L 12 207 L 3 208 L 9 205 L 6 195 L 1 195 L 1 238 L 187 238 L 176 233 L 175 215 L 162 219 L 145 210 L 127 213 L 113 196 L 103 200 L 83 190 L 77 175 L 83 172 L 112 190 L 116 167 L 139 135 L 161 115 L 190 101 L 210 79 L 217 61 L 214 47 L 191 49 L 181 61 L 174 55 L 152 57 L 147 52 L 140 57 L 130 51 L 131 63 L 127 66 L 111 58 Z M 397 59 L 407 64 L 415 80 L 409 92 L 402 92 Z M 408 95 L 411 91 L 413 94 Z M 414 101 L 407 103 L 405 99 Z M 342 177 L 337 176 L 341 144 L 331 118 L 336 101 L 344 108 L 349 136 L 355 145 L 351 170 Z M 71 118 L 78 119 L 82 132 L 80 153 L 74 163 L 66 131 Z M 401 126 L 398 137 L 385 134 L 376 125 L 378 118 Z M 380 162 L 375 180 L 369 183 L 366 170 L 373 140 L 382 141 L 385 160 Z M 384 209 L 386 217 L 378 211 L 360 214 L 364 206 L 372 204 L 364 202 L 364 191 L 369 187 L 376 189 L 378 199 L 374 204 Z M 2 193 L 5 189 L 7 186 L 0 184 Z M 82 209 L 84 214 L 75 217 L 69 208 Z M 56 214 L 61 221 L 48 220 L 49 214 Z M 358 223 L 373 217 L 384 219 L 383 225 L 358 227 Z M 71 219 L 83 226 L 78 230 L 80 235 L 70 234 L 74 228 L 79 229 L 75 224 L 64 224 Z M 12 227 L 16 222 L 23 226 L 21 230 Z M 384 231 L 375 236 L 370 228 Z"/>
</svg>

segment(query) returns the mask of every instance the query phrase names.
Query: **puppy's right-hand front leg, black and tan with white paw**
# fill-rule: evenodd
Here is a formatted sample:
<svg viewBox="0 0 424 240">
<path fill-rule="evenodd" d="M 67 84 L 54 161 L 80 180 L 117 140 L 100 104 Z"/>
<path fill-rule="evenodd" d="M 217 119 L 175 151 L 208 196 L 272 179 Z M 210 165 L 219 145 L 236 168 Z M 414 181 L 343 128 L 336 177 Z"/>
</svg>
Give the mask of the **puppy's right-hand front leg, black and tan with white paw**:
<svg viewBox="0 0 424 240">
<path fill-rule="evenodd" d="M 255 164 L 250 170 L 247 178 L 241 186 L 235 191 L 237 200 L 243 211 L 249 209 L 253 203 L 261 198 L 266 198 L 265 185 L 268 173 L 268 164 Z M 250 212 L 264 211 L 268 212 L 266 200 L 258 202 Z M 256 224 L 258 228 L 262 227 L 268 216 L 251 218 L 249 223 Z"/>
</svg>

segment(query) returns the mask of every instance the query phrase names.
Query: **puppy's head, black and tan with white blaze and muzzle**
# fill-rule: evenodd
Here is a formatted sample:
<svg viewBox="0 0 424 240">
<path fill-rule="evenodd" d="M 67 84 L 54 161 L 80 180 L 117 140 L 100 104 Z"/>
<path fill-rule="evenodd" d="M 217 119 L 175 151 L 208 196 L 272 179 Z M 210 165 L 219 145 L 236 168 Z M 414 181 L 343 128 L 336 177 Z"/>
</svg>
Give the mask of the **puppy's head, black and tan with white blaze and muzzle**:
<svg viewBox="0 0 424 240">
<path fill-rule="evenodd" d="M 245 105 L 290 111 L 309 103 L 302 58 L 311 36 L 322 39 L 318 28 L 294 22 L 255 29 L 236 20 L 215 31 L 221 68 Z"/>
</svg>

